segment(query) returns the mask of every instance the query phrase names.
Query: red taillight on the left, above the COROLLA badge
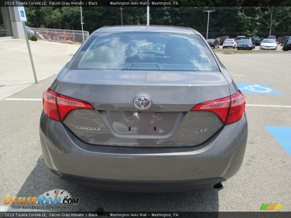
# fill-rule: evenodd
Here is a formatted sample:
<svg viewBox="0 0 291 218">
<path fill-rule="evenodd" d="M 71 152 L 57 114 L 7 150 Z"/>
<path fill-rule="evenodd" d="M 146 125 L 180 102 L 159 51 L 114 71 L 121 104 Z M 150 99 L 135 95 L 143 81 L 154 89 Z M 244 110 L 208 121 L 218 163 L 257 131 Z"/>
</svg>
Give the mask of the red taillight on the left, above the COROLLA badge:
<svg viewBox="0 0 291 218">
<path fill-rule="evenodd" d="M 50 88 L 42 96 L 45 115 L 59 122 L 62 122 L 66 115 L 74 109 L 94 109 L 88 102 L 57 94 Z"/>
</svg>

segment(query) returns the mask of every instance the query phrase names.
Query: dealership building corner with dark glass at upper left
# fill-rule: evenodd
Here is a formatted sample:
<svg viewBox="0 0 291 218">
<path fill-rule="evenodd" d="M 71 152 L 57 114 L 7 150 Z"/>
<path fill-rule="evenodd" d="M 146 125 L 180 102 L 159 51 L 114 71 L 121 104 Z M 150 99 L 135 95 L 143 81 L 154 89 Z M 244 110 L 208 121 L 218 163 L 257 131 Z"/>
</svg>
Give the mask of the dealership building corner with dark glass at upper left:
<svg viewBox="0 0 291 218">
<path fill-rule="evenodd" d="M 25 39 L 18 7 L 8 7 L 5 2 L 0 2 L 0 39 L 22 38 Z"/>
</svg>

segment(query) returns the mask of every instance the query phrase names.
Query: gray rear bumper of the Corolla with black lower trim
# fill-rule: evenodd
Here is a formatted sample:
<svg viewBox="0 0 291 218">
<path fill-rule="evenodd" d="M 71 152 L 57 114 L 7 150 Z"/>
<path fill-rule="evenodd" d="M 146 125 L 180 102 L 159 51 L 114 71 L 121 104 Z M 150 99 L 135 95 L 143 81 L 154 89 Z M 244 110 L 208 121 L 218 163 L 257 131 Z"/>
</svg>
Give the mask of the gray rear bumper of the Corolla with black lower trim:
<svg viewBox="0 0 291 218">
<path fill-rule="evenodd" d="M 115 147 L 87 144 L 42 113 L 40 141 L 46 165 L 70 182 L 111 190 L 190 190 L 237 173 L 247 121 L 244 116 L 194 147 Z"/>
</svg>

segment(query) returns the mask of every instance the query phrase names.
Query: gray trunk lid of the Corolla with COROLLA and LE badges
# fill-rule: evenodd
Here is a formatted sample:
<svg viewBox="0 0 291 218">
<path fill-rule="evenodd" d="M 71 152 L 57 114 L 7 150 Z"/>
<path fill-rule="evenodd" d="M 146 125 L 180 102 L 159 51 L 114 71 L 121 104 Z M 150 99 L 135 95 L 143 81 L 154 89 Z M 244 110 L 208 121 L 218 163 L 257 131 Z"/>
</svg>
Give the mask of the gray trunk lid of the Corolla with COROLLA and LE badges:
<svg viewBox="0 0 291 218">
<path fill-rule="evenodd" d="M 98 145 L 179 147 L 203 143 L 222 126 L 216 114 L 190 111 L 230 95 L 221 72 L 69 70 L 59 94 L 87 101 L 95 110 L 73 110 L 63 123 L 81 140 Z M 134 106 L 147 97 L 151 107 Z"/>
</svg>

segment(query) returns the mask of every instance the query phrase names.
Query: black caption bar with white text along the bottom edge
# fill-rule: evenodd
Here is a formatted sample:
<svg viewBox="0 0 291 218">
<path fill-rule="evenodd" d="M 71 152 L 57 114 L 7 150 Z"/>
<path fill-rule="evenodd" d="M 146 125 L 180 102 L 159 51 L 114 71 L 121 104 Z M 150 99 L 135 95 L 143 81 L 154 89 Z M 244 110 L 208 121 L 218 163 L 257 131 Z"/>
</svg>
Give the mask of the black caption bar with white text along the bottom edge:
<svg viewBox="0 0 291 218">
<path fill-rule="evenodd" d="M 290 218 L 291 212 L 0 212 L 0 217 Z"/>
</svg>

